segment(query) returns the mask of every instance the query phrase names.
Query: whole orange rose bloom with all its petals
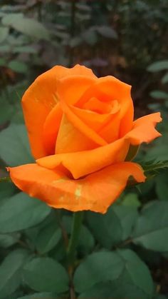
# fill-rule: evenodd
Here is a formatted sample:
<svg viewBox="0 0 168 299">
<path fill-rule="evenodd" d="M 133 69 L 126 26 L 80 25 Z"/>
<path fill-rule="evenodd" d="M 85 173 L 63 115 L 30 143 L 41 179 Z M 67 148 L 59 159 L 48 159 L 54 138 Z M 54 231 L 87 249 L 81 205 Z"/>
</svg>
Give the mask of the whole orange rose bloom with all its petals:
<svg viewBox="0 0 168 299">
<path fill-rule="evenodd" d="M 22 98 L 36 163 L 9 168 L 11 180 L 53 208 L 105 213 L 130 176 L 145 181 L 141 166 L 125 161 L 130 146 L 160 136 L 160 113 L 133 121 L 130 89 L 80 65 L 38 76 Z"/>
</svg>

